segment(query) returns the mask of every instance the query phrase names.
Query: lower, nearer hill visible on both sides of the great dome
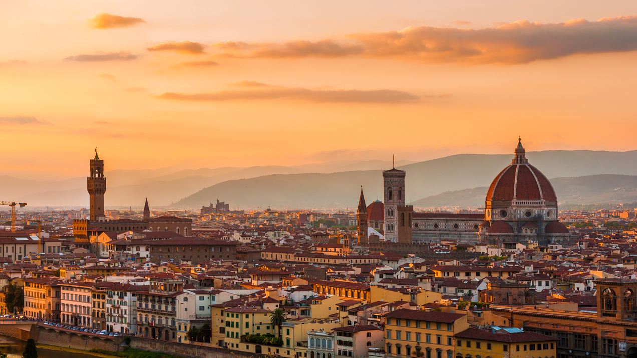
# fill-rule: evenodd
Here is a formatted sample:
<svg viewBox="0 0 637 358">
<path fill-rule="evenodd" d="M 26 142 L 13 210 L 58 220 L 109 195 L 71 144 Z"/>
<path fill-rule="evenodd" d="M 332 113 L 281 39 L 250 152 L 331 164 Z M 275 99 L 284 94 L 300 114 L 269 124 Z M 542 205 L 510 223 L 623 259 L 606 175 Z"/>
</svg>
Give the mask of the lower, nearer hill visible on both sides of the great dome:
<svg viewBox="0 0 637 358">
<path fill-rule="evenodd" d="M 550 180 L 562 208 L 585 204 L 619 204 L 637 201 L 637 176 L 587 175 Z M 455 190 L 424 197 L 414 206 L 483 206 L 487 187 Z"/>
</svg>

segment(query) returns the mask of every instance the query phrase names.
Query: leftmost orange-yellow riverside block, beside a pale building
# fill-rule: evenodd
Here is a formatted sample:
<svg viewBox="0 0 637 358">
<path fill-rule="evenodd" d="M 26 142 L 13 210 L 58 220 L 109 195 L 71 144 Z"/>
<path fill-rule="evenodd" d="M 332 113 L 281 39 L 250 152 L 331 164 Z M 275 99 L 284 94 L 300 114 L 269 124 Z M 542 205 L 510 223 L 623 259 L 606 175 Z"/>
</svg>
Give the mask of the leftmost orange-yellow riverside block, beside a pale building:
<svg viewBox="0 0 637 358">
<path fill-rule="evenodd" d="M 55 278 L 27 278 L 24 280 L 24 316 L 59 322 L 60 287 Z"/>
</svg>

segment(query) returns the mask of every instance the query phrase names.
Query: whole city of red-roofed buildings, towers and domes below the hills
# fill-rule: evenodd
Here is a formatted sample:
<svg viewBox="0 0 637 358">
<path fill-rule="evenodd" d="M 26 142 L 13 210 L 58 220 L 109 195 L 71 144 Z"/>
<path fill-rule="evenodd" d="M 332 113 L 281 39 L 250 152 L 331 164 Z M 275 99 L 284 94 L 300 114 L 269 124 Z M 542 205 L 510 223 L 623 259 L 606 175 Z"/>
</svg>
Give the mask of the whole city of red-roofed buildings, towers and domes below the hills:
<svg viewBox="0 0 637 358">
<path fill-rule="evenodd" d="M 3 320 L 288 358 L 637 355 L 637 211 L 560 211 L 521 138 L 483 211 L 406 205 L 396 168 L 355 212 L 105 210 L 89 168 L 89 210 L 5 213 Z"/>
</svg>

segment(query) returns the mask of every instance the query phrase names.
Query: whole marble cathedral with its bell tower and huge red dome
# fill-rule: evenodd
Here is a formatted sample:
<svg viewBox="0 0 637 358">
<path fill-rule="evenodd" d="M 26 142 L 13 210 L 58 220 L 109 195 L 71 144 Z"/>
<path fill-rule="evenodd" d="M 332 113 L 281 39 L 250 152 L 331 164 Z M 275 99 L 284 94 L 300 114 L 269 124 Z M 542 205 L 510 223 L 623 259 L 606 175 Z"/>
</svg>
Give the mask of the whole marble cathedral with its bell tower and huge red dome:
<svg viewBox="0 0 637 358">
<path fill-rule="evenodd" d="M 414 212 L 412 206 L 404 204 L 405 174 L 396 168 L 383 171 L 385 242 L 536 241 L 547 245 L 569 237 L 568 229 L 559 222 L 555 190 L 547 177 L 529 164 L 521 138 L 511 164 L 496 175 L 487 190 L 484 213 Z M 368 224 L 369 220 L 365 226 Z"/>
</svg>

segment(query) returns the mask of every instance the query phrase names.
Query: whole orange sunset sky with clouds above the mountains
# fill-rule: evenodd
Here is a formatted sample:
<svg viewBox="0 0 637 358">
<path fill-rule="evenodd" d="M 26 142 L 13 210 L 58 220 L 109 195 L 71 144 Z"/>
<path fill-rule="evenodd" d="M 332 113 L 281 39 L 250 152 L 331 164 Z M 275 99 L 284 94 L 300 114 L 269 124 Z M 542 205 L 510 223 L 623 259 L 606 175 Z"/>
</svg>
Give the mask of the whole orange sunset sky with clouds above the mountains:
<svg viewBox="0 0 637 358">
<path fill-rule="evenodd" d="M 634 150 L 637 1 L 3 1 L 0 175 Z"/>
</svg>

